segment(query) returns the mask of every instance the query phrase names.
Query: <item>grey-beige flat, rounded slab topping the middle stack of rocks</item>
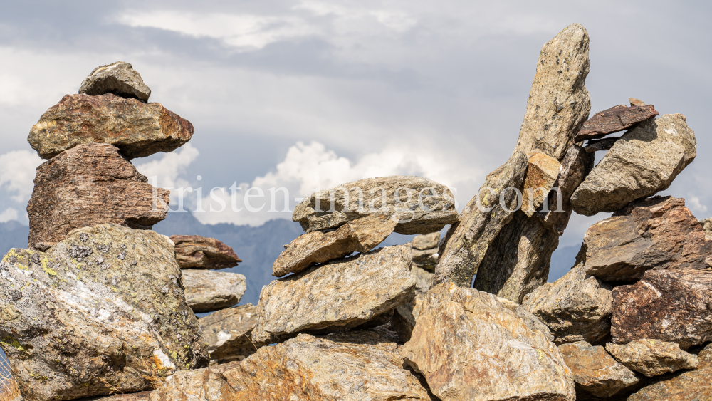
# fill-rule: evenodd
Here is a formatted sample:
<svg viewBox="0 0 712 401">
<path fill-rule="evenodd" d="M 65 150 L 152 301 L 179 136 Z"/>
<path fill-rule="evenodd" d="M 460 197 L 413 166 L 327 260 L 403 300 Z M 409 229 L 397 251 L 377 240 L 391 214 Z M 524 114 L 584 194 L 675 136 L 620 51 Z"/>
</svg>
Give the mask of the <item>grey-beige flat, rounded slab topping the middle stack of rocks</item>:
<svg viewBox="0 0 712 401">
<path fill-rule="evenodd" d="M 400 219 L 398 234 L 429 234 L 458 221 L 454 199 L 448 187 L 421 177 L 367 178 L 311 194 L 294 208 L 292 220 L 312 232 L 383 214 Z"/>
</svg>

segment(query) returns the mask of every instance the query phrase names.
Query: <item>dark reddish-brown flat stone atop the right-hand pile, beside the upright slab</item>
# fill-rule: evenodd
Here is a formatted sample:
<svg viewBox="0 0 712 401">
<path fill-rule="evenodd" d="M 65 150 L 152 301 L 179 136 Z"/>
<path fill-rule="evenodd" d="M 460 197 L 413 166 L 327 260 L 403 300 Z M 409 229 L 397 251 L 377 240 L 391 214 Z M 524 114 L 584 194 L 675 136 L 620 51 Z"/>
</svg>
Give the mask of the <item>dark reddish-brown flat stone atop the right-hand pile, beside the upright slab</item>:
<svg viewBox="0 0 712 401">
<path fill-rule="evenodd" d="M 613 132 L 620 132 L 645 120 L 654 118 L 660 113 L 653 105 L 626 107 L 617 105 L 603 110 L 589 118 L 576 134 L 575 142 L 604 137 Z"/>
</svg>

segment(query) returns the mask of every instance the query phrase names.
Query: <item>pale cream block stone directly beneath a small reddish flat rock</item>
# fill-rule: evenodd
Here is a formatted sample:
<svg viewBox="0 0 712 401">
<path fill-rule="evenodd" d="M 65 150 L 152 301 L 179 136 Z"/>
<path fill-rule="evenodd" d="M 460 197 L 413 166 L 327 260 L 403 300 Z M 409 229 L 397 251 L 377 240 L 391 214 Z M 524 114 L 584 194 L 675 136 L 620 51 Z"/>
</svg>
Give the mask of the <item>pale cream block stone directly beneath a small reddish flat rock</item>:
<svg viewBox="0 0 712 401">
<path fill-rule="evenodd" d="M 245 276 L 211 270 L 183 270 L 188 306 L 195 313 L 219 311 L 237 305 L 247 289 Z"/>
</svg>

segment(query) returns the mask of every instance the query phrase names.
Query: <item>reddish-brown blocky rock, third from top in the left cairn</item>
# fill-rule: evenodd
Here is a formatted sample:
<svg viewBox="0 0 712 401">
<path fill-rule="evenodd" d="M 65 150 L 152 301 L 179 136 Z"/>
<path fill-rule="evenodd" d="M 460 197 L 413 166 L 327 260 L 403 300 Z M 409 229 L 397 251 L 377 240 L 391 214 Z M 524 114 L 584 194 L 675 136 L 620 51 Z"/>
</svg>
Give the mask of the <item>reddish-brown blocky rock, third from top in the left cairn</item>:
<svg viewBox="0 0 712 401">
<path fill-rule="evenodd" d="M 34 184 L 27 205 L 31 248 L 47 249 L 73 229 L 101 223 L 150 229 L 168 214 L 169 192 L 152 187 L 112 145 L 63 152 L 37 167 Z"/>
</svg>

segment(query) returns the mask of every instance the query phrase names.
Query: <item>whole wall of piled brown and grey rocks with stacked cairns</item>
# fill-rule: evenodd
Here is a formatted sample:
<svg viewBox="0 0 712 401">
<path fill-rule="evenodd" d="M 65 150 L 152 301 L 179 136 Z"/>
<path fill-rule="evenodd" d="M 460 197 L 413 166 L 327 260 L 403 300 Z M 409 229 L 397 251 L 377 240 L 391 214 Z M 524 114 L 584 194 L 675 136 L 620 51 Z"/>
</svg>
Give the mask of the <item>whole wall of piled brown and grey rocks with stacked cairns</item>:
<svg viewBox="0 0 712 401">
<path fill-rule="evenodd" d="M 237 308 L 244 278 L 204 270 L 237 256 L 150 231 L 167 206 L 129 162 L 192 126 L 144 103 L 130 65 L 97 68 L 29 138 L 51 160 L 29 249 L 0 266 L 0 344 L 22 396 L 711 400 L 712 222 L 656 196 L 696 157 L 694 132 L 634 98 L 589 118 L 588 48 L 579 24 L 545 43 L 517 145 L 461 214 L 420 177 L 312 194 L 293 214 L 305 234 L 273 264 L 281 278 Z M 546 283 L 572 212 L 614 213 Z M 392 232 L 419 235 L 377 248 Z"/>
</svg>

